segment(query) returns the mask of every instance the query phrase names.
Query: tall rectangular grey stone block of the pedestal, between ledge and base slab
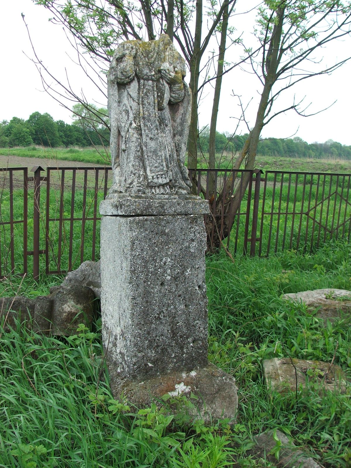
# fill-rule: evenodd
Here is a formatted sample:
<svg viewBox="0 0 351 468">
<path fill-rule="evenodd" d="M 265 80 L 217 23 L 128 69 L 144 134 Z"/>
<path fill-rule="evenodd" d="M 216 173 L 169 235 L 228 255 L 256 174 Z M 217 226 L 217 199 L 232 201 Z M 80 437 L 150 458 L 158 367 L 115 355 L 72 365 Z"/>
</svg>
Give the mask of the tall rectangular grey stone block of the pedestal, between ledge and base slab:
<svg viewBox="0 0 351 468">
<path fill-rule="evenodd" d="M 207 364 L 202 215 L 102 216 L 102 341 L 121 378 Z"/>
</svg>

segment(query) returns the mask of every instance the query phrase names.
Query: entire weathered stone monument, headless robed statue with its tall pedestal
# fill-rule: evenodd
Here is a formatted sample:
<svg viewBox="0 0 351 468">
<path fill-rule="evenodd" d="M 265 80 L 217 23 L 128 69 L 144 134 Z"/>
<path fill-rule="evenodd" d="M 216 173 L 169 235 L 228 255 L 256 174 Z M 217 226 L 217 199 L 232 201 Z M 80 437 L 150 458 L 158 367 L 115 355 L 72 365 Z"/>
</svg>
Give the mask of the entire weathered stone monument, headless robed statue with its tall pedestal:
<svg viewBox="0 0 351 468">
<path fill-rule="evenodd" d="M 113 184 L 100 205 L 102 340 L 116 398 L 128 389 L 130 401 L 147 405 L 165 393 L 206 395 L 212 387 L 225 395 L 223 404 L 212 398 L 203 408 L 228 417 L 237 407 L 234 378 L 207 361 L 209 207 L 190 194 L 184 167 L 191 104 L 184 77 L 185 62 L 166 35 L 126 41 L 111 62 Z"/>
</svg>

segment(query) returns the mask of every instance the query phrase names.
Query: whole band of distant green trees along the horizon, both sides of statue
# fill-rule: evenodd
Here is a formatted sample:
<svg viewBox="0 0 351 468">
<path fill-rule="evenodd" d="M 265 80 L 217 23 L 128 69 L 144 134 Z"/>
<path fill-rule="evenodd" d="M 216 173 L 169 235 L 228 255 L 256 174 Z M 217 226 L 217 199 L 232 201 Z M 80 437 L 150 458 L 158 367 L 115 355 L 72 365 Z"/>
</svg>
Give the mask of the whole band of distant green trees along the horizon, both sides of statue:
<svg viewBox="0 0 351 468">
<path fill-rule="evenodd" d="M 63 120 L 55 121 L 50 114 L 33 112 L 28 120 L 13 117 L 9 122 L 0 123 L 0 147 L 13 146 L 91 146 L 109 145 L 110 131 L 102 124 L 107 124 L 107 109 L 87 111 L 81 104 L 73 106 L 72 124 Z M 97 117 L 96 117 L 97 116 Z M 87 119 L 88 117 L 88 119 Z M 230 136 L 228 133 L 216 132 L 216 153 L 239 153 L 248 134 Z M 205 128 L 200 132 L 198 150 L 208 153 L 209 132 Z M 333 140 L 325 143 L 308 144 L 300 137 L 292 139 L 269 138 L 258 143 L 257 154 L 262 156 L 282 156 L 290 158 L 347 159 L 351 160 L 351 146 L 345 146 Z"/>
</svg>

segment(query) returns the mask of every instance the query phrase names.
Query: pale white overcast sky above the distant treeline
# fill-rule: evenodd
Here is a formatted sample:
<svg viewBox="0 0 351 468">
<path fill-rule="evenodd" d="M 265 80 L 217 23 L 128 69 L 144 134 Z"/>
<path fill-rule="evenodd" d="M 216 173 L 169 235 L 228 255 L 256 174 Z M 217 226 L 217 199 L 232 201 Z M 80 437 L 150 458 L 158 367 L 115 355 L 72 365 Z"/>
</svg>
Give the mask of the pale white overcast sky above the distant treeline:
<svg viewBox="0 0 351 468">
<path fill-rule="evenodd" d="M 247 1 L 245 0 L 245 2 Z M 250 1 L 252 2 L 252 0 Z M 247 4 L 245 3 L 245 5 Z M 239 5 L 240 2 L 238 2 Z M 95 102 L 95 99 L 99 99 L 98 105 L 106 105 L 107 102 L 103 102 L 96 95 L 89 80 L 72 63 L 68 55 L 72 56 L 71 46 L 62 28 L 48 21 L 50 12 L 44 7 L 34 5 L 31 0 L 0 0 L 0 44 L 2 44 L 0 121 L 10 120 L 14 116 L 27 119 L 31 113 L 39 111 L 41 113 L 48 112 L 54 120 L 62 119 L 68 123 L 72 122 L 71 113 L 43 91 L 36 67 L 25 56 L 26 53 L 32 58 L 33 51 L 21 13 L 25 15 L 25 21 L 29 25 L 38 57 L 48 66 L 51 73 L 54 76 L 59 75 L 62 80 L 65 80 L 67 71 L 71 85 L 77 91 L 82 90 L 89 102 Z M 245 27 L 246 34 L 249 34 L 253 27 L 253 20 L 244 22 L 243 16 L 238 18 L 240 18 L 238 21 L 240 27 Z M 241 32 L 239 27 L 237 29 L 238 32 Z M 347 53 L 348 50 L 351 51 L 351 37 L 342 43 L 340 41 L 332 43 L 331 48 L 325 49 L 324 53 L 326 60 L 329 58 L 330 62 L 338 58 L 341 59 L 342 53 L 340 51 Z M 306 96 L 304 102 L 312 102 L 309 108 L 310 112 L 323 109 L 335 100 L 336 103 L 331 109 L 314 117 L 299 117 L 294 111 L 281 114 L 264 128 L 262 136 L 288 138 L 294 135 L 308 143 L 333 139 L 344 145 L 351 145 L 350 76 L 351 61 L 332 75 L 304 80 L 299 88 L 294 87 L 290 99 L 293 94 L 296 95 L 297 100 Z M 241 95 L 244 104 L 248 103 L 251 97 L 253 98 L 247 117 L 249 125 L 253 126 L 254 124 L 258 100 L 257 82 L 251 75 L 236 69 L 223 79 L 217 125 L 219 131 L 234 132 L 236 121 L 233 117 L 240 116 L 238 101 L 231 96 L 232 90 L 235 94 Z M 291 101 L 286 101 L 285 105 L 287 104 L 291 104 Z M 70 107 L 72 105 L 73 103 L 69 104 Z M 211 88 L 206 88 L 199 109 L 200 126 L 209 124 L 211 106 Z M 241 127 L 241 132 L 245 131 L 245 127 Z"/>
</svg>

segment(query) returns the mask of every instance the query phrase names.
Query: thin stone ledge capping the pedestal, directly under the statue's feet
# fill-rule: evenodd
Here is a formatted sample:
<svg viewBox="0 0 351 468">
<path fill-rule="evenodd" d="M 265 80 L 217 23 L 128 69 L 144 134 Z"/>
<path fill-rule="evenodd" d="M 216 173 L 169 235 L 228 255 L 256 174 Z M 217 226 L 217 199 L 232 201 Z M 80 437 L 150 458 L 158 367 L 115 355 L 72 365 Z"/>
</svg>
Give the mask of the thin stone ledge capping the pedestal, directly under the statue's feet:
<svg viewBox="0 0 351 468">
<path fill-rule="evenodd" d="M 100 204 L 105 216 L 165 216 L 209 214 L 208 200 L 195 195 L 140 195 L 116 194 Z"/>
</svg>

